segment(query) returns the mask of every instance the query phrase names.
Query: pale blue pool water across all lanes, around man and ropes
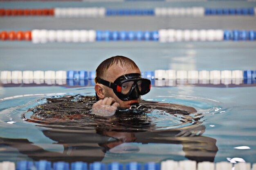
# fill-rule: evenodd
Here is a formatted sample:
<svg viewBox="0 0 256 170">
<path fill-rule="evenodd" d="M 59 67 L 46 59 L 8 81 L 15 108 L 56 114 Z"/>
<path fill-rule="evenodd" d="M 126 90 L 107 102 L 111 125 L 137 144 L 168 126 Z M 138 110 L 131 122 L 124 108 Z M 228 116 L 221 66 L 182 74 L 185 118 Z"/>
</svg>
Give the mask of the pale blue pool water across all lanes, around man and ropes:
<svg viewBox="0 0 256 170">
<path fill-rule="evenodd" d="M 52 7 L 255 7 L 256 2 L 0 2 L 3 8 Z M 31 29 L 245 29 L 255 30 L 255 17 L 108 17 L 108 18 L 0 18 L 2 30 Z M 174 70 L 255 70 L 255 42 L 95 42 L 48 43 L 0 42 L 0 71 L 3 70 L 87 70 L 94 71 L 107 57 L 124 55 L 141 71 Z M 223 87 L 223 86 L 222 86 Z M 202 113 L 200 123 L 180 117 L 150 113 L 146 132 L 108 131 L 85 126 L 83 119 L 69 123 L 39 124 L 25 121 L 22 114 L 42 104 L 47 97 L 94 95 L 94 88 L 61 86 L 0 87 L 0 162 L 19 160 L 148 162 L 208 158 L 215 162 L 239 157 L 256 163 L 256 86 L 219 88 L 200 86 L 153 87 L 143 96 L 147 101 L 182 104 Z M 14 97 L 13 97 L 14 96 Z M 40 100 L 41 99 L 41 100 Z M 31 112 L 25 113 L 30 117 Z M 194 114 L 191 114 L 195 117 Z M 127 118 L 128 119 L 128 118 Z M 92 119 L 94 120 L 94 119 Z M 114 122 L 111 119 L 101 121 Z M 72 126 L 70 124 L 72 123 Z M 74 125 L 77 124 L 77 125 Z M 177 125 L 178 124 L 178 125 Z M 110 126 L 111 127 L 111 126 Z M 114 126 L 115 127 L 115 126 Z M 109 127 L 108 127 L 109 128 Z M 127 127 L 128 128 L 128 127 Z M 138 126 L 138 129 L 141 128 Z M 177 129 L 178 128 L 178 129 Z M 196 137 L 177 137 L 187 128 Z M 191 129 L 194 128 L 194 129 Z M 128 128 L 129 129 L 129 128 Z M 138 130 L 139 131 L 139 130 Z M 202 132 L 202 135 L 198 136 Z M 182 134 L 180 134 L 181 136 Z M 240 149 L 237 147 L 246 146 Z M 195 157 L 197 155 L 197 157 Z M 198 156 L 199 155 L 199 156 Z"/>
</svg>

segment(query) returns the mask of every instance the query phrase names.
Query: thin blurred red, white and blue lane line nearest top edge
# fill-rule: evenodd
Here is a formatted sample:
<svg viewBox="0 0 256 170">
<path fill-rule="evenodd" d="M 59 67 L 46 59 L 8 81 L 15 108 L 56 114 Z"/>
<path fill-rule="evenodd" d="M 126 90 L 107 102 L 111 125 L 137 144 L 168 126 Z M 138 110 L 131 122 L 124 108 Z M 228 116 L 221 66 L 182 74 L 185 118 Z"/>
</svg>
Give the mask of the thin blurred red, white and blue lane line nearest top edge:
<svg viewBox="0 0 256 170">
<path fill-rule="evenodd" d="M 0 9 L 0 17 L 45 16 L 56 18 L 102 18 L 111 16 L 203 17 L 203 16 L 254 16 L 256 7 L 204 8 L 156 7 L 148 9 L 109 9 L 104 7 L 67 7 L 44 9 Z"/>
</svg>

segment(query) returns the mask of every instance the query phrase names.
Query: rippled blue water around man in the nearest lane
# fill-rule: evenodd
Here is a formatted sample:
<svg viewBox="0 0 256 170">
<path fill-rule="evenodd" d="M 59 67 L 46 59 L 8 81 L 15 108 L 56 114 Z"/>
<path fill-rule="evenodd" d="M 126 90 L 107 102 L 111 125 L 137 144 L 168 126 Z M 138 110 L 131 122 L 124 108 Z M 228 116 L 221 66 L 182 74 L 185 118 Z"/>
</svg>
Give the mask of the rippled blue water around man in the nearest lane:
<svg viewBox="0 0 256 170">
<path fill-rule="evenodd" d="M 105 163 L 134 160 L 148 162 L 166 159 L 184 160 L 190 158 L 189 155 L 199 152 L 208 155 L 207 157 L 209 155 L 212 157 L 213 154 L 216 162 L 240 157 L 247 162 L 255 163 L 255 88 L 153 87 L 150 93 L 143 96 L 143 99 L 148 101 L 194 107 L 198 111 L 197 113 L 204 115 L 200 119 L 202 124 L 199 125 L 199 131 L 205 130 L 202 139 L 199 137 L 175 137 L 177 135 L 175 130 L 180 127 L 175 127 L 173 122 L 168 124 L 168 121 L 175 121 L 175 119 L 168 115 L 159 115 L 159 113 L 148 114 L 156 128 L 146 133 L 127 131 L 115 132 L 113 135 L 108 130 L 97 132 L 94 128 L 85 126 L 81 128 L 81 122 L 78 127 L 69 127 L 65 123 L 61 126 L 56 124 L 54 127 L 54 125 L 44 126 L 27 122 L 22 120 L 21 114 L 28 108 L 40 104 L 38 99 L 64 93 L 94 95 L 93 87 L 4 88 L 4 95 L 1 95 L 1 98 L 14 95 L 34 95 L 0 102 L 0 161 L 23 159 L 92 161 L 91 158 L 94 155 L 94 161 L 102 160 Z M 54 95 L 54 93 L 57 94 Z M 191 127 L 191 124 L 185 124 L 184 127 Z M 115 142 L 115 137 L 120 136 L 125 140 Z M 199 143 L 195 143 L 196 139 Z M 249 149 L 235 149 L 238 146 L 248 146 Z M 102 147 L 108 149 L 102 151 Z M 208 152 L 200 152 L 198 147 L 202 147 Z M 209 150 L 215 151 L 210 152 Z M 33 152 L 37 154 L 31 154 Z"/>
</svg>

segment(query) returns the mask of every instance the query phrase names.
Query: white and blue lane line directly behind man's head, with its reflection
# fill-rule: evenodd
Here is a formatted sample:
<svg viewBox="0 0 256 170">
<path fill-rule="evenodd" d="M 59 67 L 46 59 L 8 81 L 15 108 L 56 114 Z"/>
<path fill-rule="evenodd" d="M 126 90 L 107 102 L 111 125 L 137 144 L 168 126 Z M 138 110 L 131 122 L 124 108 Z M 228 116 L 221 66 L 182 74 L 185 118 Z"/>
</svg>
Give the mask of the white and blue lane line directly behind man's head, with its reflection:
<svg viewBox="0 0 256 170">
<path fill-rule="evenodd" d="M 141 77 L 155 87 L 250 87 L 256 86 L 256 71 L 142 71 Z M 67 88 L 94 86 L 95 71 L 0 71 L 4 87 L 63 86 Z"/>
</svg>

